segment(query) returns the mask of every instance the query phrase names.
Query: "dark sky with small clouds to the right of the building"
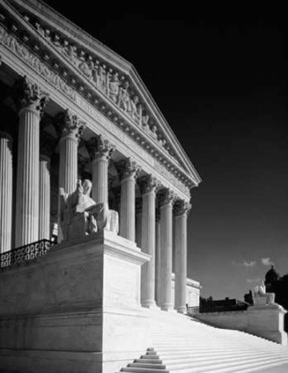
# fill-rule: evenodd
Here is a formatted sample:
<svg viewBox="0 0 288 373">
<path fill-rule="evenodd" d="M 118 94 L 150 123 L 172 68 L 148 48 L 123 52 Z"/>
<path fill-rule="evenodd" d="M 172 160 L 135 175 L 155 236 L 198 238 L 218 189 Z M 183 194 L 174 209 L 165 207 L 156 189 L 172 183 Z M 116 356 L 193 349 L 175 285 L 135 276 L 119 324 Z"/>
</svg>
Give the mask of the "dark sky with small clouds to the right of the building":
<svg viewBox="0 0 288 373">
<path fill-rule="evenodd" d="M 241 299 L 271 261 L 288 273 L 281 22 L 46 3 L 134 64 L 203 179 L 188 223 L 202 294 Z"/>
</svg>

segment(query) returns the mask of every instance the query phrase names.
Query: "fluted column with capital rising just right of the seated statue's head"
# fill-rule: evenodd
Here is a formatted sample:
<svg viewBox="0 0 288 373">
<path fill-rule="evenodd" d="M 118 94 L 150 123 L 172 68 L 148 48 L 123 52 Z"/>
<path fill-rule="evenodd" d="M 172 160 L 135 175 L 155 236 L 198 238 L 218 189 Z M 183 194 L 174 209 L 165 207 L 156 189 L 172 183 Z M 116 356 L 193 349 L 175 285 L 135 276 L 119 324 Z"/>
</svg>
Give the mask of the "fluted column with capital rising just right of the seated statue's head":
<svg viewBox="0 0 288 373">
<path fill-rule="evenodd" d="M 108 165 L 115 146 L 99 135 L 86 147 L 92 161 L 92 199 L 108 206 Z"/>
</svg>

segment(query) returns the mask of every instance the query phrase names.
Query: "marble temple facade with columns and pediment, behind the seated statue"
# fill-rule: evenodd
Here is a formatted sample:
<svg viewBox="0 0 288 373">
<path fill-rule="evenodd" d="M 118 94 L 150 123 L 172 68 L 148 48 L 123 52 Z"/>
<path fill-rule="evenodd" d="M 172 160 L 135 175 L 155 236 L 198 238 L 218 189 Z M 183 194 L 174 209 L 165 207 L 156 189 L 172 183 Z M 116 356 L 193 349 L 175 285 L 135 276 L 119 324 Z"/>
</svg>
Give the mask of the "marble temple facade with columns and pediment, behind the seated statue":
<svg viewBox="0 0 288 373">
<path fill-rule="evenodd" d="M 0 63 L 0 253 L 43 239 L 65 246 L 60 188 L 89 179 L 92 199 L 119 215 L 114 246 L 138 256 L 120 250 L 126 267 L 138 263 L 136 303 L 185 313 L 201 179 L 135 68 L 38 0 L 0 1 Z M 124 281 L 108 273 L 113 286 Z"/>
</svg>

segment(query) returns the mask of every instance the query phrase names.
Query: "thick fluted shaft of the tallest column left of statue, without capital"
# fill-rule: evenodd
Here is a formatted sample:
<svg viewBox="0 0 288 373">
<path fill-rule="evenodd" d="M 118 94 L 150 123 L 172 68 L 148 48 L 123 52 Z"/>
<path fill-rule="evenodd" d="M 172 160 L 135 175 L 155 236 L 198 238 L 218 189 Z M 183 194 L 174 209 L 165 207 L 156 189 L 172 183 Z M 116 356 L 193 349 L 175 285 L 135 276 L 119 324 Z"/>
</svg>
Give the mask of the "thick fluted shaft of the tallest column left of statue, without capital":
<svg viewBox="0 0 288 373">
<path fill-rule="evenodd" d="M 15 246 L 39 238 L 39 124 L 34 109 L 19 112 Z"/>
</svg>

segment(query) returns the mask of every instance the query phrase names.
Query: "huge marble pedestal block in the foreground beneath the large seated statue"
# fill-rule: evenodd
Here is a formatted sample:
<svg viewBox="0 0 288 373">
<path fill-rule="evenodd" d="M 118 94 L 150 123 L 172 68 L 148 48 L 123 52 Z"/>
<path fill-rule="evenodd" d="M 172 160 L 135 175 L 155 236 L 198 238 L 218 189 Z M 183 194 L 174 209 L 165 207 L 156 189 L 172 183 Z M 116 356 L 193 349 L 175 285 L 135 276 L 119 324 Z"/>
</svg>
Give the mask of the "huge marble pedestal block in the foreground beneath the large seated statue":
<svg viewBox="0 0 288 373">
<path fill-rule="evenodd" d="M 135 243 L 103 231 L 0 273 L 0 371 L 111 373 L 151 346 Z"/>
</svg>

